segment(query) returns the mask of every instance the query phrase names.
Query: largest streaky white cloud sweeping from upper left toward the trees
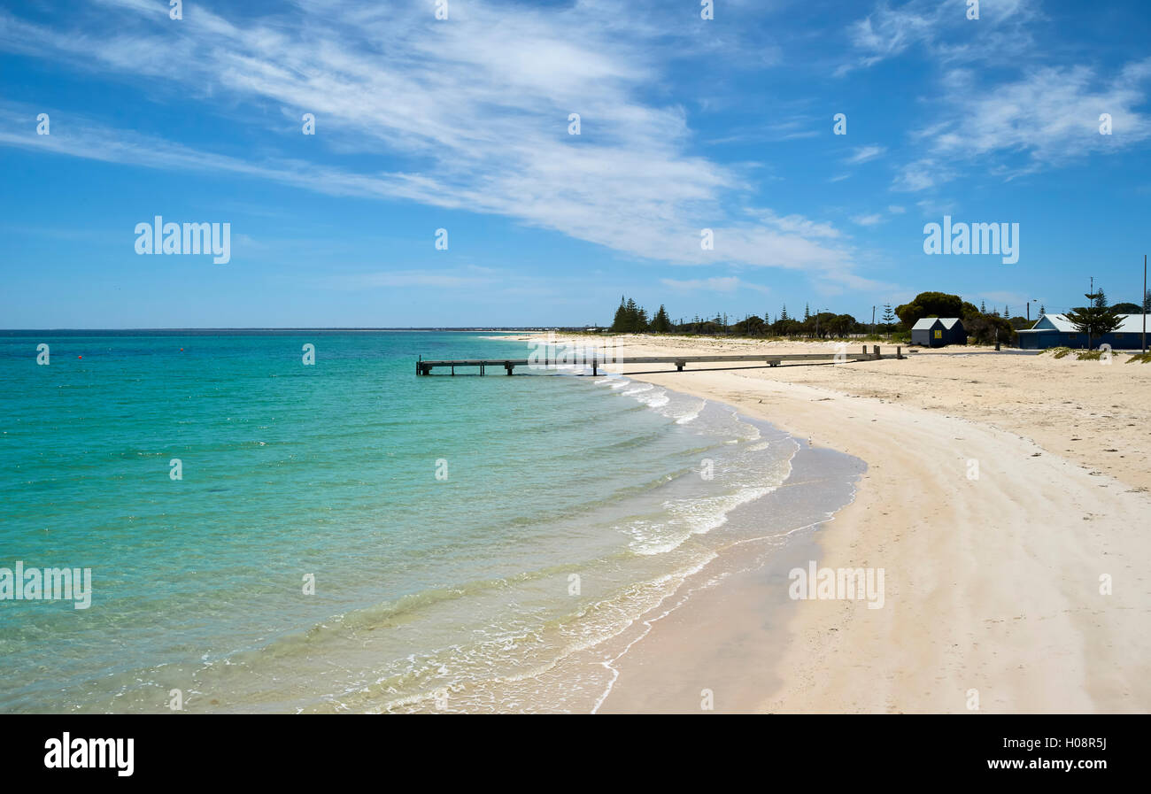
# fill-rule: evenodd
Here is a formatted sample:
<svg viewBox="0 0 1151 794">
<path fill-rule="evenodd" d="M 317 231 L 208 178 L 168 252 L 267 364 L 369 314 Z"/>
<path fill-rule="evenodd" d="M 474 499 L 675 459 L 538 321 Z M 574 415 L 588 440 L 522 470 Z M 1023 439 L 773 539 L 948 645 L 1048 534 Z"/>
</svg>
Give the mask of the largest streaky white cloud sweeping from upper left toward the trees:
<svg viewBox="0 0 1151 794">
<path fill-rule="evenodd" d="M 200 104 L 247 131 L 266 128 L 259 153 L 201 151 L 97 121 L 36 140 L 25 119 L 7 120 L 0 144 L 498 214 L 677 265 L 834 278 L 854 267 L 848 251 L 826 245 L 834 235 L 825 224 L 715 222 L 748 185 L 692 153 L 680 105 L 649 99 L 663 64 L 648 45 L 672 35 L 666 26 L 596 13 L 595 2 L 453 3 L 450 24 L 421 3 L 308 0 L 299 14 L 245 14 L 243 24 L 200 6 L 173 23 L 166 3 L 100 5 L 78 13 L 71 29 L 0 12 L 0 49 L 147 81 L 151 94 L 167 86 L 157 101 Z M 303 113 L 318 129 L 307 155 L 297 145 Z M 581 116 L 579 136 L 567 133 L 570 113 Z M 776 133 L 806 133 L 800 122 L 780 124 Z M 714 252 L 699 245 L 709 224 L 723 227 L 725 244 Z"/>
</svg>

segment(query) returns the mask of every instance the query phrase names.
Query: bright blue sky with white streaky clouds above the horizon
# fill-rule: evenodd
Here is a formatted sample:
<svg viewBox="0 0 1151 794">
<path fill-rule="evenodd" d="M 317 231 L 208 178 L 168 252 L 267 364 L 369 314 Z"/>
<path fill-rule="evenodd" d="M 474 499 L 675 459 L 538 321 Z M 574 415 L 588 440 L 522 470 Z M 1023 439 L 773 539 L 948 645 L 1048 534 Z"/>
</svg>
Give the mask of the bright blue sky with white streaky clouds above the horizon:
<svg viewBox="0 0 1151 794">
<path fill-rule="evenodd" d="M 1137 300 L 1151 7 L 967 2 L 0 2 L 0 327 Z M 925 254 L 945 214 L 1019 261 Z M 155 215 L 230 261 L 138 255 Z"/>
</svg>

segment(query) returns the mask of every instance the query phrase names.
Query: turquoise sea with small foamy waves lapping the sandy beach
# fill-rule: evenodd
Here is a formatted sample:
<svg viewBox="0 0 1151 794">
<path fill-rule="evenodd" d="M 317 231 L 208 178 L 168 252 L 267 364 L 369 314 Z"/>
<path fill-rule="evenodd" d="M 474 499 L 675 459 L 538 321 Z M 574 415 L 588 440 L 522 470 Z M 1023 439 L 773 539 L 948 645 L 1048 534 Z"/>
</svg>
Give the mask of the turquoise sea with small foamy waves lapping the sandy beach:
<svg viewBox="0 0 1151 794">
<path fill-rule="evenodd" d="M 802 444 L 626 377 L 414 375 L 527 352 L 0 335 L 0 567 L 92 571 L 86 610 L 0 601 L 0 711 L 589 710 L 611 671 L 576 654 L 851 498 L 839 456 L 761 499 Z"/>
</svg>

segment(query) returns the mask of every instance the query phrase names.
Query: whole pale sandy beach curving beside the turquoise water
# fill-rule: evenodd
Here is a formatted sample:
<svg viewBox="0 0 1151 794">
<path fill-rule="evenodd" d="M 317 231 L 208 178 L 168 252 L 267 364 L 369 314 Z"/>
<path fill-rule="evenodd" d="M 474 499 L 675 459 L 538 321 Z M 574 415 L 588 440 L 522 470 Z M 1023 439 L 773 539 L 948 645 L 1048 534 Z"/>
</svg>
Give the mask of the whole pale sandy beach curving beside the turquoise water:
<svg viewBox="0 0 1151 794">
<path fill-rule="evenodd" d="M 616 344 L 622 357 L 825 350 Z M 600 710 L 676 710 L 669 690 L 708 681 L 717 711 L 1151 709 L 1141 565 L 1151 559 L 1151 367 L 1127 358 L 962 349 L 839 365 L 612 367 L 864 460 L 855 501 L 817 532 L 814 553 L 821 567 L 886 575 L 881 609 L 787 603 L 780 571 L 732 577 L 653 624 Z"/>
</svg>

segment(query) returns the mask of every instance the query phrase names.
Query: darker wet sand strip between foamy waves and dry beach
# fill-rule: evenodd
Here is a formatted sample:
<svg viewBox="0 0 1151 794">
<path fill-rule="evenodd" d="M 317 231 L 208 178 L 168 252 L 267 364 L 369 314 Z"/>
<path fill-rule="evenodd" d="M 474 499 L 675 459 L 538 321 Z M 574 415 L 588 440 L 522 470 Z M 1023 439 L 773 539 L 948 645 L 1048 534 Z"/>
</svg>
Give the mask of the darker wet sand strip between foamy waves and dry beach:
<svg viewBox="0 0 1151 794">
<path fill-rule="evenodd" d="M 792 489 L 830 493 L 820 482 L 825 479 L 821 467 L 828 456 L 834 458 L 832 465 L 852 472 L 846 499 L 830 510 L 820 509 L 811 495 L 794 499 Z M 732 511 L 729 519 L 744 524 L 748 517 L 744 510 L 776 516 L 788 507 L 805 517 L 788 521 L 794 526 L 783 534 L 735 540 L 718 549 L 672 594 L 672 606 L 654 610 L 662 611 L 655 617 L 639 616 L 637 623 L 646 628 L 611 658 L 616 679 L 595 712 L 704 712 L 701 701 L 708 696 L 708 712 L 748 713 L 780 686 L 776 666 L 796 617 L 795 603 L 787 596 L 788 572 L 822 558 L 820 529 L 854 502 L 866 471 L 857 458 L 811 449 L 801 441 L 792 465 L 777 489 Z M 706 641 L 698 641 L 701 636 Z"/>
</svg>

